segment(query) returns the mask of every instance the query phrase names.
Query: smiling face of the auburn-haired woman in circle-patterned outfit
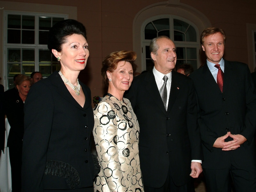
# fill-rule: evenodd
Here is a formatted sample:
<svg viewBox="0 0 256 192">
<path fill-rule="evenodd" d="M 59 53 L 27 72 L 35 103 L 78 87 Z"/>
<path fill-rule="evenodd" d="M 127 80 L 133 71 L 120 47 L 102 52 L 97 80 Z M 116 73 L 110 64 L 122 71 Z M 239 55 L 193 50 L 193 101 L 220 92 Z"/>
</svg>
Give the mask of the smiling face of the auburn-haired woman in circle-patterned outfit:
<svg viewBox="0 0 256 192">
<path fill-rule="evenodd" d="M 128 90 L 132 84 L 132 64 L 127 61 L 120 61 L 112 73 L 107 71 L 107 76 L 108 79 L 112 80 L 109 82 L 109 88 L 111 90 L 115 90 L 116 92 L 124 92 Z"/>
</svg>

